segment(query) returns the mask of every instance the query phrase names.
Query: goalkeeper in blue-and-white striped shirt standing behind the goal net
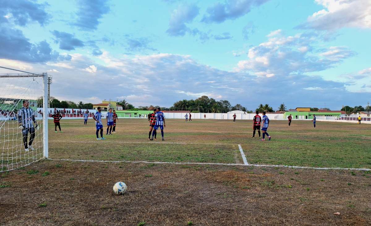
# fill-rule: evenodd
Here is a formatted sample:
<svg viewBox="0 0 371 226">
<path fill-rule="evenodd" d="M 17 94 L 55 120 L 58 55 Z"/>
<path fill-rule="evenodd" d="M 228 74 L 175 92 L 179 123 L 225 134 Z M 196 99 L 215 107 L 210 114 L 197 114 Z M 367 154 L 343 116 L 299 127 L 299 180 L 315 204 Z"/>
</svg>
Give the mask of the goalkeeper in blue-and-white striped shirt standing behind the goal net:
<svg viewBox="0 0 371 226">
<path fill-rule="evenodd" d="M 35 127 L 33 127 L 33 122 Z M 33 109 L 29 108 L 29 101 L 23 100 L 23 107 L 18 111 L 18 123 L 19 128 L 22 130 L 23 134 L 23 145 L 24 150 L 27 152 L 28 149 L 35 150 L 32 147 L 33 139 L 35 138 L 35 128 L 37 128 L 37 122 L 35 115 L 33 114 Z M 30 141 L 27 144 L 28 134 L 30 133 Z"/>
</svg>

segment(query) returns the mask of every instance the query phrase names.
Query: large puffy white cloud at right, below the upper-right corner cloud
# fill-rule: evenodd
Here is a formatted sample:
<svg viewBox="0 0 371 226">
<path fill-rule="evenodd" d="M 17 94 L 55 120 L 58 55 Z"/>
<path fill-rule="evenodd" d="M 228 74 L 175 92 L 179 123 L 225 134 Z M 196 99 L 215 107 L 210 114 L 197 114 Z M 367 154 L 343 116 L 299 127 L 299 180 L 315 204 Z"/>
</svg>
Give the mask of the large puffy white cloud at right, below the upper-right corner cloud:
<svg viewBox="0 0 371 226">
<path fill-rule="evenodd" d="M 235 70 L 253 72 L 258 76 L 274 74 L 281 77 L 291 73 L 323 71 L 355 55 L 344 46 L 312 51 L 316 42 L 311 35 L 285 37 L 278 31 L 271 32 L 266 42 L 250 48 L 249 59 L 239 61 Z"/>
</svg>

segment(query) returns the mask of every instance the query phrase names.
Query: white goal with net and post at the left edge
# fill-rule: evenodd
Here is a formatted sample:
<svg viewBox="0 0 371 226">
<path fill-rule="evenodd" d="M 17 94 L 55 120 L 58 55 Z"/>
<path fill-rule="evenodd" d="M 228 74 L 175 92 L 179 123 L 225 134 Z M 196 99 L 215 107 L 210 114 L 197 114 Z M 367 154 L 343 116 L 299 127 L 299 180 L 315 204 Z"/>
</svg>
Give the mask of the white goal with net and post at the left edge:
<svg viewBox="0 0 371 226">
<path fill-rule="evenodd" d="M 47 73 L 0 74 L 0 172 L 47 158 L 46 94 Z"/>
</svg>

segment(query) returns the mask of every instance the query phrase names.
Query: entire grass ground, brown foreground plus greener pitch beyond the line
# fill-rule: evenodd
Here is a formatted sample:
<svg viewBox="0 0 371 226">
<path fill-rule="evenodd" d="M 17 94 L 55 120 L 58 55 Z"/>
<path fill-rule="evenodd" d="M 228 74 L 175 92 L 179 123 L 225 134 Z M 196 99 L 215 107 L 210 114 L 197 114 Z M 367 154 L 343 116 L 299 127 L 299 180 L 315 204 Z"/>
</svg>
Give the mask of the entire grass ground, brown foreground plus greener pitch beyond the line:
<svg viewBox="0 0 371 226">
<path fill-rule="evenodd" d="M 371 125 L 316 124 L 272 120 L 260 141 L 252 121 L 168 119 L 149 141 L 145 119 L 106 140 L 50 121 L 50 159 L 1 173 L 0 225 L 370 225 Z"/>
</svg>

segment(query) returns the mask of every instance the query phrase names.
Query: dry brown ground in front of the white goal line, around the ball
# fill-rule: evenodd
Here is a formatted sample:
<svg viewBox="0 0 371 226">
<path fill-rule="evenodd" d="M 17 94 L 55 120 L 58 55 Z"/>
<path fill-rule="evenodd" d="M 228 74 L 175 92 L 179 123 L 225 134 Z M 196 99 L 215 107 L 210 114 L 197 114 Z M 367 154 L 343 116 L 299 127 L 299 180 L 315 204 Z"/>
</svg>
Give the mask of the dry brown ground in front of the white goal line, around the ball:
<svg viewBox="0 0 371 226">
<path fill-rule="evenodd" d="M 0 224 L 370 225 L 370 179 L 354 174 L 44 160 L 1 174 Z"/>
</svg>

